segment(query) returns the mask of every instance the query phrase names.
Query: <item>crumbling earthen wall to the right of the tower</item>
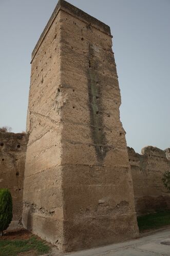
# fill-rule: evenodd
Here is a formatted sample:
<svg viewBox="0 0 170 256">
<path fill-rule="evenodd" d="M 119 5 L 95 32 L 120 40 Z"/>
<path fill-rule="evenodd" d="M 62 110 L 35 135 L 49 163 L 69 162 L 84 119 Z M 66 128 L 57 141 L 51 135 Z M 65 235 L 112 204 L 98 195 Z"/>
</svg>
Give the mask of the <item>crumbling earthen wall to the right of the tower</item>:
<svg viewBox="0 0 170 256">
<path fill-rule="evenodd" d="M 170 209 L 170 193 L 162 183 L 162 176 L 170 170 L 165 152 L 157 147 L 142 149 L 142 155 L 128 147 L 129 162 L 134 183 L 137 215 Z"/>
</svg>

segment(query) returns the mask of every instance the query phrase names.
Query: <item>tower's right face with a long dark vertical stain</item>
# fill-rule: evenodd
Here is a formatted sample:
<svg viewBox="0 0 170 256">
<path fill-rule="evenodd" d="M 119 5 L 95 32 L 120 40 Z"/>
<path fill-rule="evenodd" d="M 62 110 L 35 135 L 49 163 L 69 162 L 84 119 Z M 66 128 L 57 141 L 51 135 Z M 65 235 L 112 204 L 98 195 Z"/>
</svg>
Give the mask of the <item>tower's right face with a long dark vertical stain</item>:
<svg viewBox="0 0 170 256">
<path fill-rule="evenodd" d="M 61 12 L 63 212 L 66 250 L 138 233 L 109 28 Z"/>
</svg>

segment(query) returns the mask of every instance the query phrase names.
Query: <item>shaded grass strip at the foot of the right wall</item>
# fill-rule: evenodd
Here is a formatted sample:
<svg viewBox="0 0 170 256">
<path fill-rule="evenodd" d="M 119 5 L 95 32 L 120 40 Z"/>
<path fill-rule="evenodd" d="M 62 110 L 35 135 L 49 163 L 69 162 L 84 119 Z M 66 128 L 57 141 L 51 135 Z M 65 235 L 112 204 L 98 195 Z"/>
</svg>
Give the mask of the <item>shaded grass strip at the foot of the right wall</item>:
<svg viewBox="0 0 170 256">
<path fill-rule="evenodd" d="M 156 212 L 137 217 L 139 230 L 157 229 L 162 226 L 170 225 L 170 210 Z"/>
</svg>

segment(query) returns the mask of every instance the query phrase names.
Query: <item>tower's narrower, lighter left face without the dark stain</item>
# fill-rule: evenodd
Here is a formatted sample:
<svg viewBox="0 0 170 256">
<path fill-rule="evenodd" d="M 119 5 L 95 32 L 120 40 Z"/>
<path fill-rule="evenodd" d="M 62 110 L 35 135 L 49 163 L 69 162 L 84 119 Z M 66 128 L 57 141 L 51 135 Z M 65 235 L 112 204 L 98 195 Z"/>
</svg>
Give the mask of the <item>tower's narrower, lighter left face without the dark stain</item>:
<svg viewBox="0 0 170 256">
<path fill-rule="evenodd" d="M 32 53 L 23 195 L 24 227 L 54 244 L 63 244 L 61 22 L 58 13 Z"/>
</svg>

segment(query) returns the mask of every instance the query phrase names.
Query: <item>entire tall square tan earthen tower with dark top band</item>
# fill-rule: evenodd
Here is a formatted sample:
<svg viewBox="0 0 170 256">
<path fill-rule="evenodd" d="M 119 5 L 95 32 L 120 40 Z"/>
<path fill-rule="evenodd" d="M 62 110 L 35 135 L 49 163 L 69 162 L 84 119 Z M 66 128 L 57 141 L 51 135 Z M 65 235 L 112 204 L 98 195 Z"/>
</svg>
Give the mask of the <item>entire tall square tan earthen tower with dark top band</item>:
<svg viewBox="0 0 170 256">
<path fill-rule="evenodd" d="M 62 251 L 138 235 L 111 46 L 61 0 L 32 52 L 23 223 Z"/>
</svg>

